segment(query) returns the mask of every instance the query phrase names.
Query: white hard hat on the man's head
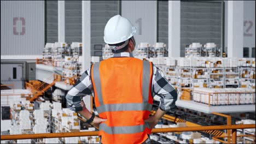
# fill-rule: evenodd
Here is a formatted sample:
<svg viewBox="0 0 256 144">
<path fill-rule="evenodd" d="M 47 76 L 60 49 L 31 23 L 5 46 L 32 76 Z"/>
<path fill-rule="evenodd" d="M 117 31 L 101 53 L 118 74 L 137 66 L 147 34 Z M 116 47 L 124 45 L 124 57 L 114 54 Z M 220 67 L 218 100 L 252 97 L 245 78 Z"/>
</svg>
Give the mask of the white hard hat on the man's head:
<svg viewBox="0 0 256 144">
<path fill-rule="evenodd" d="M 104 29 L 104 41 L 118 44 L 130 39 L 136 33 L 136 27 L 125 17 L 115 15 L 108 20 Z"/>
</svg>

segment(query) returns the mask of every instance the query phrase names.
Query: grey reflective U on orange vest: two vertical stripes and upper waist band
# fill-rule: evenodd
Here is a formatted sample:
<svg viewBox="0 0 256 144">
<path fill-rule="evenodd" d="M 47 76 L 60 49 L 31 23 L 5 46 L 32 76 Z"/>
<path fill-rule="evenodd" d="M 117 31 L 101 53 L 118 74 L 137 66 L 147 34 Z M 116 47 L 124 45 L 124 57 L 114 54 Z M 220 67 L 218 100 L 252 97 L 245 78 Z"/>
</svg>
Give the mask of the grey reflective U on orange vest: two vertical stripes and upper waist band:
<svg viewBox="0 0 256 144">
<path fill-rule="evenodd" d="M 143 61 L 143 73 L 142 73 L 142 96 L 143 96 L 143 103 L 128 103 L 128 104 L 103 104 L 102 93 L 101 93 L 101 79 L 100 79 L 100 63 L 94 64 L 94 82 L 95 82 L 95 89 L 97 91 L 98 101 L 100 102 L 100 106 L 97 107 L 97 112 L 102 113 L 106 111 L 131 111 L 131 110 L 152 110 L 152 105 L 148 103 L 148 96 L 149 96 L 149 71 L 150 65 L 148 61 Z"/>
</svg>

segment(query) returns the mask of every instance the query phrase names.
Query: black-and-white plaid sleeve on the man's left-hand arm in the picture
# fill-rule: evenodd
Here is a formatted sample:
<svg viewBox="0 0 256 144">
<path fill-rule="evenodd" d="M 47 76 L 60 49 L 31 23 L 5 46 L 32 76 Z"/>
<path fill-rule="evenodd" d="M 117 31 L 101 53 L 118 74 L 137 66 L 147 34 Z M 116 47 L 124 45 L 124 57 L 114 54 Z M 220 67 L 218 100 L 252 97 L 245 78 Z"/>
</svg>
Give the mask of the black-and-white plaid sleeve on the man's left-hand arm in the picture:
<svg viewBox="0 0 256 144">
<path fill-rule="evenodd" d="M 81 111 L 82 100 L 86 95 L 93 93 L 92 84 L 90 80 L 90 69 L 86 70 L 80 77 L 80 79 L 74 84 L 74 86 L 68 91 L 66 100 L 69 105 L 69 109 L 72 111 Z"/>
</svg>

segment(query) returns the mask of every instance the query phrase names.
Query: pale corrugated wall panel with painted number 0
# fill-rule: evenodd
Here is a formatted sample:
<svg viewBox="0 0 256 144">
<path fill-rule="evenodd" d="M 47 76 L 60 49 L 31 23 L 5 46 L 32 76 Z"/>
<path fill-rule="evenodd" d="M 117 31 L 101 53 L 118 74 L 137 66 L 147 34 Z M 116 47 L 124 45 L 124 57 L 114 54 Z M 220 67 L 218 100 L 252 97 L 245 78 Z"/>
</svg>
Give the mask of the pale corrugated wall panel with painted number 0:
<svg viewBox="0 0 256 144">
<path fill-rule="evenodd" d="M 44 1 L 1 1 L 1 60 L 42 57 Z"/>
</svg>

